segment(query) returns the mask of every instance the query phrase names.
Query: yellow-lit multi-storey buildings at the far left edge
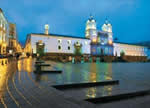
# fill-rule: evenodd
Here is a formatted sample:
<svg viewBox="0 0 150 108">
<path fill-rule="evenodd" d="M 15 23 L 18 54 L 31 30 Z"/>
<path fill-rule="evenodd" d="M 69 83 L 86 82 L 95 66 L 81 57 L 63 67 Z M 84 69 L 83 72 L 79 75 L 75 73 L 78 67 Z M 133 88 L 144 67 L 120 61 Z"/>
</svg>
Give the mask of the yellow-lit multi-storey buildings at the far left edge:
<svg viewBox="0 0 150 108">
<path fill-rule="evenodd" d="M 19 45 L 16 25 L 7 21 L 0 8 L 0 55 L 15 54 L 20 49 Z"/>
</svg>

